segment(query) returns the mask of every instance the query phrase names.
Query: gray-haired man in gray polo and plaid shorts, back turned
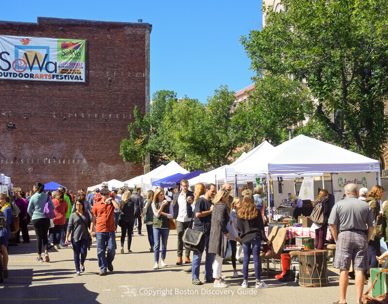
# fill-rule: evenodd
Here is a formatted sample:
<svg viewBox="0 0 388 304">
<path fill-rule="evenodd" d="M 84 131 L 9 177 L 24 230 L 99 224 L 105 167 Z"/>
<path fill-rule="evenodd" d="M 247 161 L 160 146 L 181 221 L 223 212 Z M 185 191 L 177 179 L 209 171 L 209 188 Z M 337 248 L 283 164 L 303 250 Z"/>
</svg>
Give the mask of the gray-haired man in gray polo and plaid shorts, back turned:
<svg viewBox="0 0 388 304">
<path fill-rule="evenodd" d="M 371 207 L 358 199 L 356 184 L 344 187 L 346 198 L 336 203 L 328 223 L 337 243 L 334 268 L 339 271 L 339 301 L 346 303 L 349 268 L 353 261 L 356 279 L 357 303 L 361 304 L 364 289 L 363 270 L 369 269 L 367 242 L 373 234 L 375 222 Z"/>
</svg>

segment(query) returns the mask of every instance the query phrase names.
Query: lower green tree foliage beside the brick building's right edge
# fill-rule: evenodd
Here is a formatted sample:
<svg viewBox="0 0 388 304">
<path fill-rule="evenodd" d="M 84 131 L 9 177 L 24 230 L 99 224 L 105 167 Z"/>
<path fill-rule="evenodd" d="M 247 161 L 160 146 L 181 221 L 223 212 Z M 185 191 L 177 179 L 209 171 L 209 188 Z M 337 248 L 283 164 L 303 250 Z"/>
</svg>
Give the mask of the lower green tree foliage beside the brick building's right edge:
<svg viewBox="0 0 388 304">
<path fill-rule="evenodd" d="M 141 163 L 147 153 L 152 159 L 175 160 L 189 170 L 219 167 L 230 162 L 241 144 L 241 124 L 234 116 L 234 92 L 220 86 L 205 104 L 187 96 L 177 100 L 172 91 L 153 95 L 150 113 L 134 110 L 129 138 L 121 142 L 124 161 Z M 153 167 L 159 163 L 153 163 Z"/>
</svg>

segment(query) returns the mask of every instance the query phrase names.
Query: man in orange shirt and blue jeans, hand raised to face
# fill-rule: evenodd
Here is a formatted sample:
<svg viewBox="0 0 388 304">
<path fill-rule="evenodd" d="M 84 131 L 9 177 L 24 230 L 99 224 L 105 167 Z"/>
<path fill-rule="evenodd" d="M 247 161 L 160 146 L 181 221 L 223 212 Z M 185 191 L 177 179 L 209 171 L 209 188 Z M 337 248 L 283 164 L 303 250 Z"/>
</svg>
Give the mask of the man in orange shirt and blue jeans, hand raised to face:
<svg viewBox="0 0 388 304">
<path fill-rule="evenodd" d="M 107 188 L 101 189 L 101 199 L 98 200 L 92 209 L 92 223 L 90 231 L 97 239 L 97 259 L 100 268 L 99 275 L 106 275 L 106 270 L 113 271 L 113 259 L 116 253 L 116 236 L 114 226 L 114 209 L 120 209 L 120 205 L 112 199 Z M 97 220 L 96 220 L 97 217 Z M 93 231 L 96 225 L 96 232 Z M 108 249 L 106 255 L 105 251 Z"/>
</svg>

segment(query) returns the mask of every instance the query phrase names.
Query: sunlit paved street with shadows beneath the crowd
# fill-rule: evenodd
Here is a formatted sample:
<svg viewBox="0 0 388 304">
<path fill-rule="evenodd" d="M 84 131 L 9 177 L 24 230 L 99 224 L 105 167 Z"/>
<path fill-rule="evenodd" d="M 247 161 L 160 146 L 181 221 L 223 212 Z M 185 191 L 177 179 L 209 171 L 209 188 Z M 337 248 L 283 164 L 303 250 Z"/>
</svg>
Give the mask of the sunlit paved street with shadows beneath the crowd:
<svg viewBox="0 0 388 304">
<path fill-rule="evenodd" d="M 338 271 L 330 269 L 329 287 L 309 288 L 276 280 L 272 274 L 264 281 L 267 289 L 255 289 L 254 278 L 249 279 L 249 288 L 242 289 L 242 275 L 231 278 L 232 265 L 223 266 L 223 274 L 231 283 L 228 288 L 213 288 L 212 284 L 194 286 L 191 275 L 182 271 L 188 265 L 176 266 L 177 235 L 171 231 L 168 238 L 167 267 L 152 270 L 154 255 L 148 252 L 147 236 L 132 238 L 133 253 L 120 254 L 117 235 L 116 256 L 113 272 L 105 277 L 98 276 L 97 250 L 94 244 L 88 252 L 85 272 L 75 277 L 73 251 L 71 248 L 51 249 L 49 263 L 37 263 L 35 236 L 29 226 L 32 242 L 9 247 L 9 278 L 0 284 L 0 303 L 166 303 L 203 302 L 226 303 L 328 303 L 339 300 Z M 120 229 L 120 228 L 118 228 Z M 146 227 L 143 229 L 146 235 Z M 126 246 L 126 244 L 125 244 Z M 242 264 L 237 265 L 238 270 Z M 201 266 L 201 271 L 204 266 Z M 200 275 L 203 280 L 203 274 Z M 356 303 L 354 281 L 350 280 L 347 303 Z M 366 288 L 365 288 L 366 290 Z M 232 298 L 231 298 L 232 297 Z"/>
</svg>

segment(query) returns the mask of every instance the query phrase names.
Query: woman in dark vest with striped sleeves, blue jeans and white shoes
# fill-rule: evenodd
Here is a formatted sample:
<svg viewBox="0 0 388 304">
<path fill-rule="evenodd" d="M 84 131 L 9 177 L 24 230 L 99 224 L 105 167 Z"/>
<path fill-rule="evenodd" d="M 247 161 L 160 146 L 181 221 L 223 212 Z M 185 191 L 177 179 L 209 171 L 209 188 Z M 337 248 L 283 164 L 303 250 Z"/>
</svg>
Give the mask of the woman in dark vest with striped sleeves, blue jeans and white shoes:
<svg viewBox="0 0 388 304">
<path fill-rule="evenodd" d="M 167 266 L 164 262 L 166 258 L 167 252 L 167 239 L 170 233 L 170 220 L 174 215 L 173 206 L 170 202 L 164 198 L 163 188 L 158 188 L 155 190 L 154 198 L 151 203 L 152 211 L 154 213 L 153 221 L 152 221 L 152 231 L 154 234 L 154 242 L 155 242 L 155 265 L 154 270 L 159 269 L 159 254 L 161 247 L 161 239 L 162 239 L 162 267 Z"/>
</svg>

